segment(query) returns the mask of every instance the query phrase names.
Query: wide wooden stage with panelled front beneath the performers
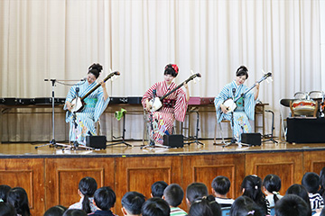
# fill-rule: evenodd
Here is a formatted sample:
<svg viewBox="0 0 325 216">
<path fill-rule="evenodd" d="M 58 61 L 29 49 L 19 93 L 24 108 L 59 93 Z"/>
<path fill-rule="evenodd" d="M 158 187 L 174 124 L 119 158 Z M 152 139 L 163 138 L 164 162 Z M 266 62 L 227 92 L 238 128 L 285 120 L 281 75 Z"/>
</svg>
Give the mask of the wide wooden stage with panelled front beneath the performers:
<svg viewBox="0 0 325 216">
<path fill-rule="evenodd" d="M 103 150 L 64 151 L 49 146 L 35 148 L 46 143 L 2 144 L 0 184 L 25 188 L 32 215 L 38 216 L 53 205 L 78 202 L 79 180 L 89 175 L 98 187 L 108 185 L 115 190 L 114 212 L 121 215 L 124 193 L 138 191 L 150 197 L 150 186 L 158 180 L 180 184 L 183 190 L 192 182 L 202 182 L 210 191 L 212 179 L 226 175 L 231 182 L 228 196 L 236 198 L 246 175 L 264 178 L 275 174 L 282 178 L 284 194 L 291 184 L 301 183 L 305 172 L 320 173 L 325 166 L 325 143 L 268 141 L 255 147 L 223 148 L 213 145 L 212 139 L 200 141 L 204 145 L 192 143 L 183 148 L 141 148 L 142 141 L 126 141 L 133 147 L 121 144 Z M 187 208 L 185 202 L 181 207 Z"/>
</svg>

